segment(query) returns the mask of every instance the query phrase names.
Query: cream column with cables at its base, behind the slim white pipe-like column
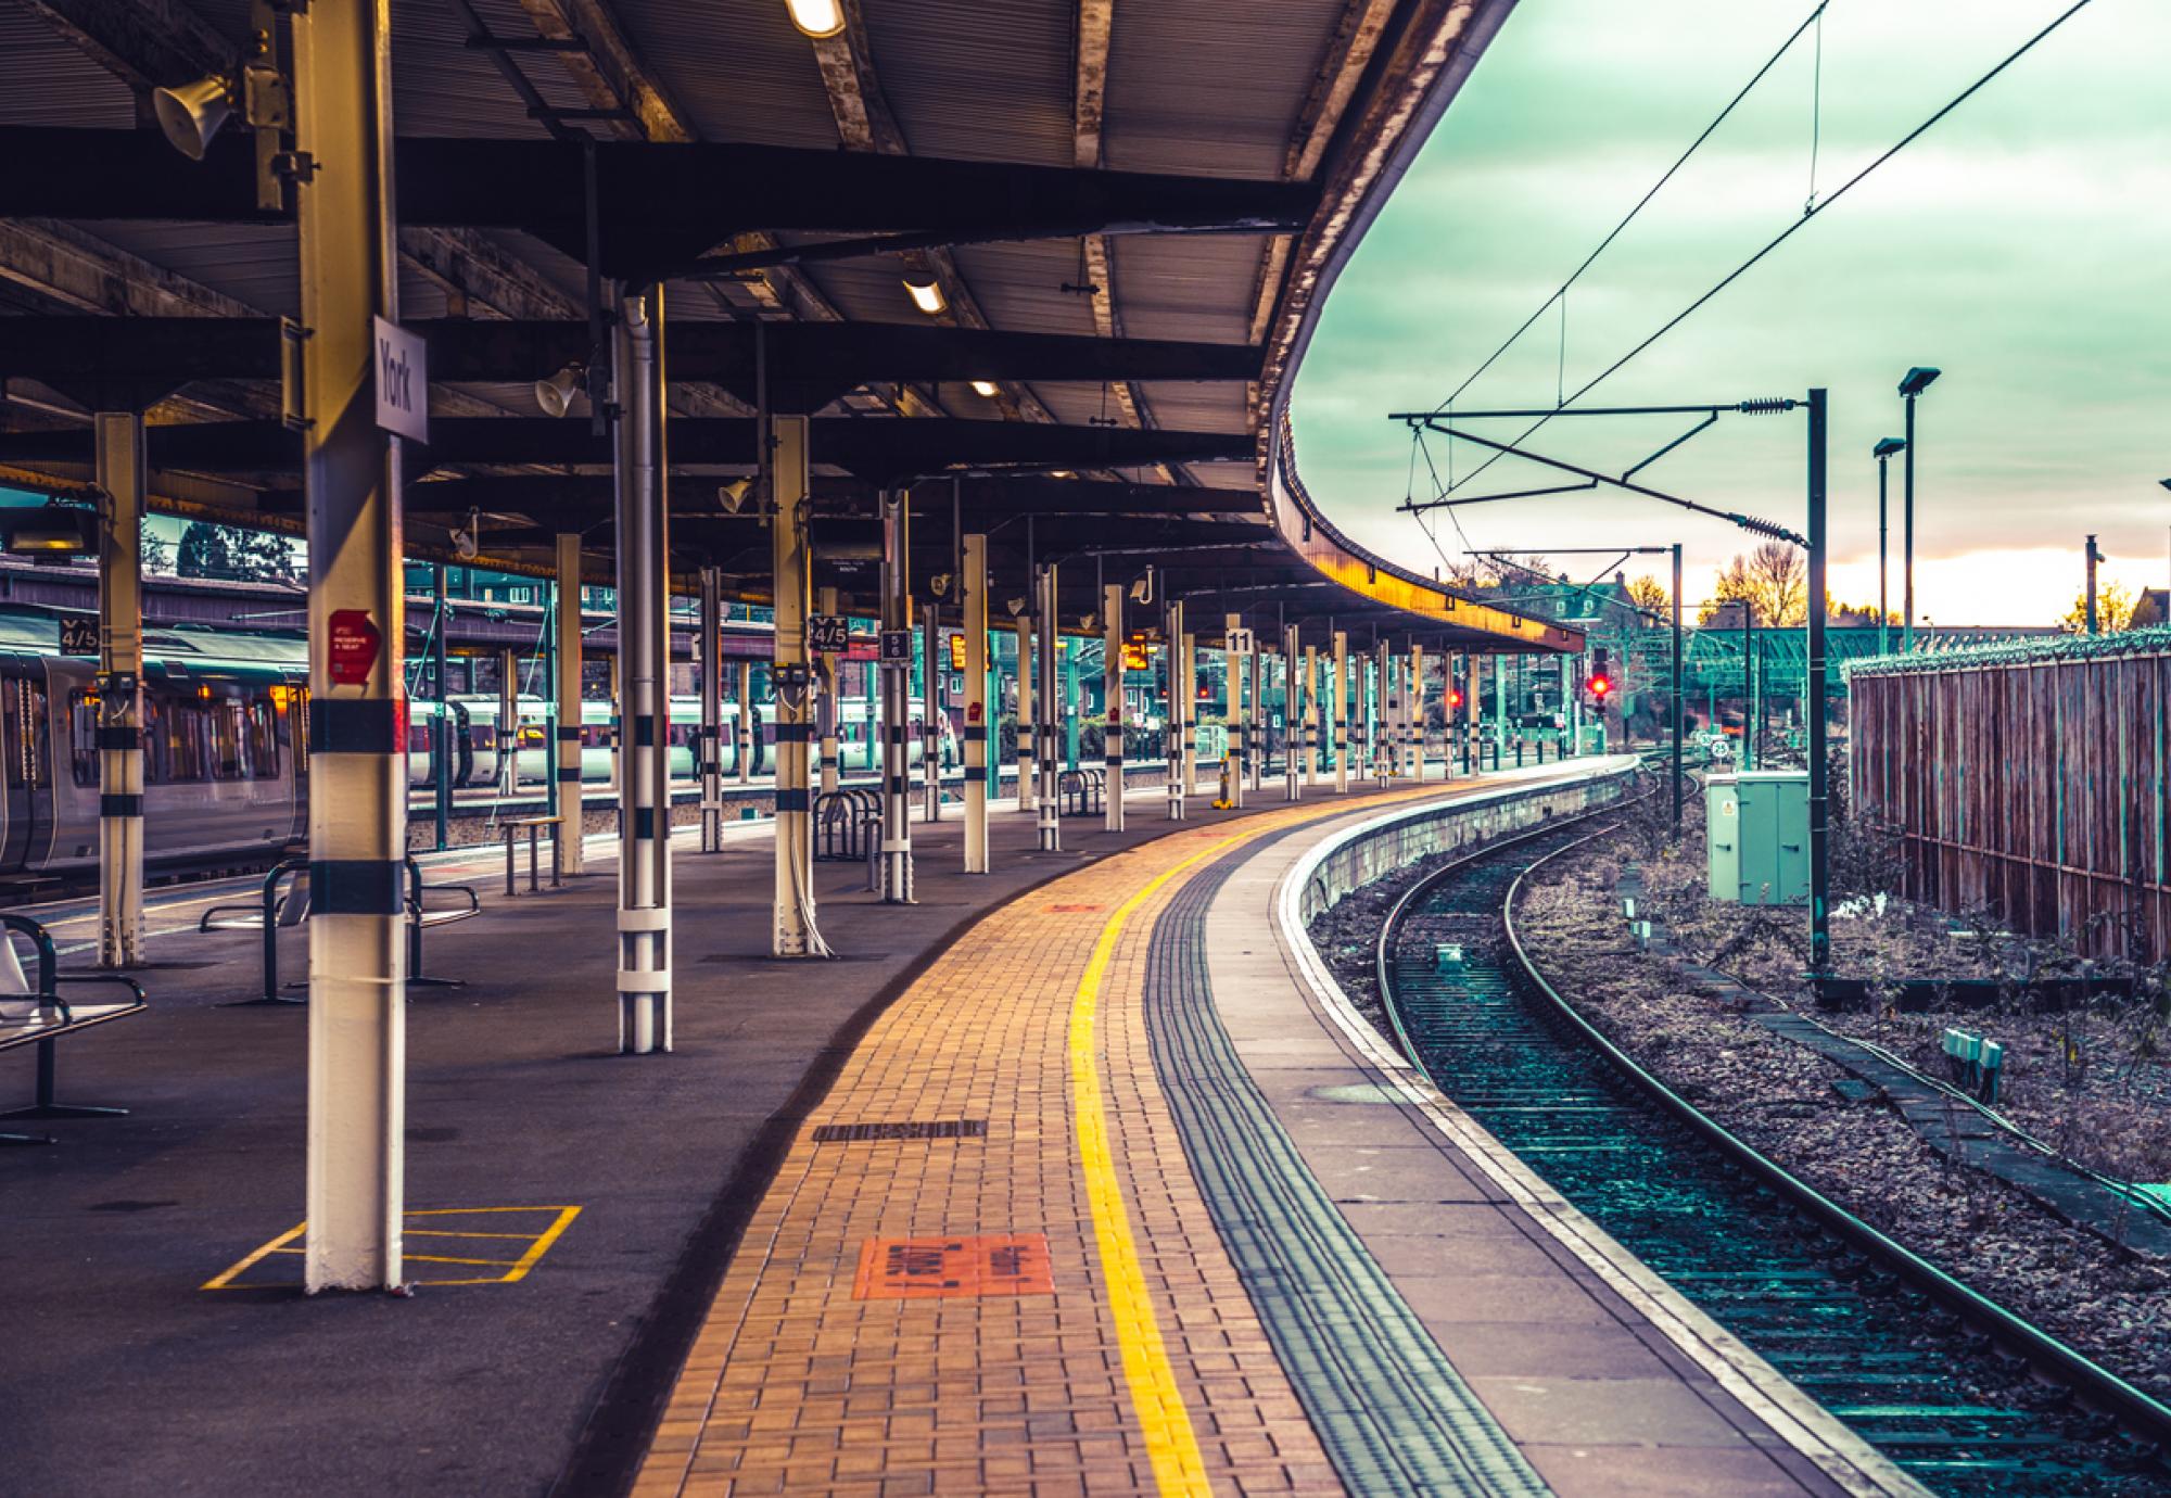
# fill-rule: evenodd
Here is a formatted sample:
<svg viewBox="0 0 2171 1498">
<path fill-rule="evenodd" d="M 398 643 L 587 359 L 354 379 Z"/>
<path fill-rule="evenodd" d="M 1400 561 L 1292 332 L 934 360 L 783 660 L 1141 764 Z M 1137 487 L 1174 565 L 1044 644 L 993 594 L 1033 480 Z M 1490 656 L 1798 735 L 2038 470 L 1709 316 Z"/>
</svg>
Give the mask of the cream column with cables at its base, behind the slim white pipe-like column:
<svg viewBox="0 0 2171 1498">
<path fill-rule="evenodd" d="M 808 419 L 771 417 L 762 443 L 769 467 L 769 556 L 771 588 L 777 604 L 777 625 L 771 636 L 769 682 L 777 714 L 777 849 L 775 849 L 775 918 L 769 951 L 777 957 L 827 957 L 829 944 L 814 923 L 814 818 L 808 805 L 808 729 L 812 727 L 808 695 L 812 667 L 808 662 L 808 604 L 812 601 L 812 549 L 808 547 Z M 740 677 L 740 732 L 749 721 L 751 671 Z M 745 762 L 745 760 L 742 760 Z"/>
</svg>

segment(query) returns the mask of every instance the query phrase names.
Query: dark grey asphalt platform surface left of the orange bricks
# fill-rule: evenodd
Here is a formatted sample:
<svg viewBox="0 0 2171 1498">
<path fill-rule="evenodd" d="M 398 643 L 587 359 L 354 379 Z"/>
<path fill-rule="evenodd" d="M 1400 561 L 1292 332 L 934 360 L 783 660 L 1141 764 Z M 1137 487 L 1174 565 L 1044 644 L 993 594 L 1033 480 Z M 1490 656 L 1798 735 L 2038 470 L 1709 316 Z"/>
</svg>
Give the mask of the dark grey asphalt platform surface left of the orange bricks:
<svg viewBox="0 0 2171 1498">
<path fill-rule="evenodd" d="M 721 1266 L 766 1140 L 788 1138 L 855 1016 L 994 903 L 1161 836 L 1161 808 L 1133 795 L 1125 834 L 1070 818 L 1051 855 L 1031 851 L 1031 816 L 996 812 L 996 873 L 979 877 L 957 873 L 957 821 L 921 823 L 912 907 L 875 903 L 860 866 L 818 864 L 842 955 L 825 964 L 766 955 L 766 825 L 719 855 L 682 836 L 677 1051 L 653 1057 L 614 1055 L 612 862 L 512 901 L 502 851 L 432 868 L 475 884 L 486 914 L 428 936 L 428 970 L 467 988 L 408 1005 L 408 1205 L 580 1216 L 519 1283 L 410 1300 L 202 1290 L 302 1220 L 308 1014 L 224 1007 L 258 992 L 258 938 L 195 936 L 204 897 L 154 892 L 152 1010 L 61 1053 L 63 1101 L 135 1112 L 0 1151 L 0 1491 L 538 1494 L 575 1457 L 588 1491 L 638 1455 L 640 1385 L 660 1359 L 675 1372 L 684 1307 L 706 1307 L 682 1259 Z M 80 949 L 96 918 L 74 910 L 56 934 Z M 28 1053 L 4 1086 L 28 1101 Z M 243 1281 L 297 1281 L 293 1266 L 274 1255 Z"/>
</svg>

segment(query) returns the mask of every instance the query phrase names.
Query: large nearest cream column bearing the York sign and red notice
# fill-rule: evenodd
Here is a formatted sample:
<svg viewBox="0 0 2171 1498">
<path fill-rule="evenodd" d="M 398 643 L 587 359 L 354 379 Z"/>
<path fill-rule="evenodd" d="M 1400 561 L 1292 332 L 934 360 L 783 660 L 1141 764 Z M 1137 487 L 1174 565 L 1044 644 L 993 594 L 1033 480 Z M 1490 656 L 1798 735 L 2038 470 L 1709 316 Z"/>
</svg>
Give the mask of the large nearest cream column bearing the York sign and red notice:
<svg viewBox="0 0 2171 1498">
<path fill-rule="evenodd" d="M 304 1287 L 395 1290 L 406 1198 L 406 588 L 399 443 L 371 315 L 399 319 L 391 37 L 378 0 L 293 15 L 308 510 L 308 1237 Z M 341 651 L 332 636 L 376 638 Z M 360 656 L 371 656 L 365 669 Z M 358 677 L 358 680 L 356 680 Z"/>
</svg>

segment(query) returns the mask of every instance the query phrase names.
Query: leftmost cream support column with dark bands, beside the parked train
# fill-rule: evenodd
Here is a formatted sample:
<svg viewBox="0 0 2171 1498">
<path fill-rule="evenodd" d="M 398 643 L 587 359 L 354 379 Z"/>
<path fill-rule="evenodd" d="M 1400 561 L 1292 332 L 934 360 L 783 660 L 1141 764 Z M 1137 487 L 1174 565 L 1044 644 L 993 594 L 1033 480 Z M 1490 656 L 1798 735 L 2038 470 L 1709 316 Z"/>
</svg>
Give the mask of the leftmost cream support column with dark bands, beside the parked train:
<svg viewBox="0 0 2171 1498">
<path fill-rule="evenodd" d="M 143 962 L 143 412 L 100 410 L 98 966 Z"/>
</svg>

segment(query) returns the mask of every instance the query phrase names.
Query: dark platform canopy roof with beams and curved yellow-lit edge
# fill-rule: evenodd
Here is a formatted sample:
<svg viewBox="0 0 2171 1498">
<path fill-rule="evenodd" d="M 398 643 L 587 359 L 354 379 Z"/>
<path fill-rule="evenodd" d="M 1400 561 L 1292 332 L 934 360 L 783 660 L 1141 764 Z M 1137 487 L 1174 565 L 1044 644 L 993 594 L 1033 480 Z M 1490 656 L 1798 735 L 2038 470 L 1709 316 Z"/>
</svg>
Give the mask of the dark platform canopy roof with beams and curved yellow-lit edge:
<svg viewBox="0 0 2171 1498">
<path fill-rule="evenodd" d="M 432 380 L 408 549 L 462 528 L 478 564 L 547 571 L 580 532 L 610 577 L 608 430 L 536 382 L 597 358 L 612 278 L 664 287 L 682 582 L 769 595 L 734 493 L 766 399 L 812 417 L 816 582 L 847 593 L 901 486 L 916 593 L 983 532 L 994 597 L 1059 558 L 1066 614 L 1151 564 L 1205 636 L 1578 649 L 1348 541 L 1287 441 L 1320 300 L 1509 4 L 845 0 L 810 39 L 784 0 L 395 0 L 399 310 Z M 291 215 L 239 119 L 195 163 L 150 102 L 232 74 L 250 17 L 0 9 L 0 484 L 85 482 L 89 412 L 145 406 L 152 508 L 300 530 Z"/>
</svg>

